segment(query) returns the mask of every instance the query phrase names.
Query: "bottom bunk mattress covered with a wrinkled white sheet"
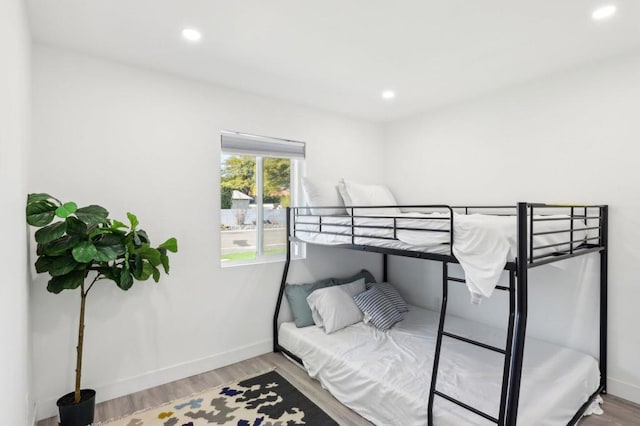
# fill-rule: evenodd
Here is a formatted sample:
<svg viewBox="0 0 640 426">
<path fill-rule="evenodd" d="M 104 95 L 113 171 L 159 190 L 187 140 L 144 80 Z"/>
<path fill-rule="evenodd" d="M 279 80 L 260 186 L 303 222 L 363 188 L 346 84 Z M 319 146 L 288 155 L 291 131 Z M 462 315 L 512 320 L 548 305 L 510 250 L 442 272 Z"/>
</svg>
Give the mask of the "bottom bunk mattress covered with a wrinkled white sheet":
<svg viewBox="0 0 640 426">
<path fill-rule="evenodd" d="M 358 323 L 327 335 L 317 327 L 280 325 L 279 343 L 303 360 L 339 401 L 377 425 L 426 425 L 438 313 L 410 306 L 382 332 Z M 454 316 L 445 330 L 504 347 L 506 332 Z M 437 389 L 498 417 L 504 357 L 443 337 Z M 566 425 L 600 383 L 597 361 L 527 338 L 519 425 Z M 438 396 L 436 425 L 494 424 Z"/>
</svg>

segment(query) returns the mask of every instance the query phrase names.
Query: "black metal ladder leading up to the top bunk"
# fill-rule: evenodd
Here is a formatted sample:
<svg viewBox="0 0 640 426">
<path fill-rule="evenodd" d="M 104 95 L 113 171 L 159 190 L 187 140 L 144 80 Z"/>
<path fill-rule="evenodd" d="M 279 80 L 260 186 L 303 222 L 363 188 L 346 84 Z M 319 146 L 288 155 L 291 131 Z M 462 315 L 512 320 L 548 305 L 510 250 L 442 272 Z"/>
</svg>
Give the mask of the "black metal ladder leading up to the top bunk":
<svg viewBox="0 0 640 426">
<path fill-rule="evenodd" d="M 509 324 L 508 324 L 508 330 L 507 330 L 506 347 L 503 349 L 503 348 L 488 345 L 483 342 L 479 342 L 477 340 L 472 340 L 464 336 L 450 333 L 444 329 L 445 317 L 447 313 L 447 295 L 448 295 L 449 283 L 450 282 L 465 283 L 466 281 L 461 278 L 450 277 L 448 272 L 448 263 L 447 262 L 442 263 L 442 307 L 440 310 L 440 322 L 438 325 L 438 335 L 436 338 L 436 349 L 433 357 L 433 370 L 431 372 L 431 388 L 429 391 L 429 406 L 428 406 L 429 425 L 433 425 L 433 402 L 434 402 L 435 396 L 446 399 L 447 401 L 452 402 L 498 425 L 507 425 L 507 424 L 515 423 L 515 418 L 513 418 L 513 420 L 508 419 L 508 417 L 511 417 L 511 416 L 509 416 L 507 413 L 507 405 L 508 405 L 508 393 L 509 393 L 508 391 L 510 386 L 509 382 L 510 382 L 510 376 L 511 376 L 510 371 L 512 367 L 511 360 L 513 356 L 512 343 L 513 343 L 513 334 L 514 334 L 515 306 L 516 306 L 516 291 L 515 291 L 516 274 L 515 274 L 515 271 L 513 270 L 510 270 L 508 272 L 509 272 L 509 287 L 496 286 L 496 289 L 498 290 L 504 290 L 509 292 Z M 447 395 L 445 393 L 438 391 L 436 385 L 438 381 L 438 367 L 440 363 L 440 350 L 442 348 L 443 337 L 459 340 L 459 341 L 462 341 L 471 345 L 479 346 L 481 348 L 504 355 L 504 369 L 502 373 L 502 391 L 500 394 L 500 409 L 498 413 L 498 418 L 495 418 L 488 413 L 485 413 L 483 411 L 478 410 L 477 408 L 474 408 L 468 404 L 465 404 L 464 402 L 459 401 L 450 395 Z M 519 387 L 519 383 L 518 383 L 518 387 Z M 513 417 L 515 417 L 515 414 Z"/>
</svg>

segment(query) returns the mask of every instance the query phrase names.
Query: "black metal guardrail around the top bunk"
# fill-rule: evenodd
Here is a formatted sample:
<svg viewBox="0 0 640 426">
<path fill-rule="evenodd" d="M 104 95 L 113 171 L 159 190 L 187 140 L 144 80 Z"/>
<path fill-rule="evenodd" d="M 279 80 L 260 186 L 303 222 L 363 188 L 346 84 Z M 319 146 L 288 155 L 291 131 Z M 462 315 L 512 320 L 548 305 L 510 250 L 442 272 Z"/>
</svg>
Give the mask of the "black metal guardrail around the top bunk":
<svg viewBox="0 0 640 426">
<path fill-rule="evenodd" d="M 528 251 L 526 262 L 529 267 L 545 265 L 547 263 L 557 262 L 570 257 L 587 254 L 590 252 L 600 251 L 602 249 L 602 217 L 603 207 L 601 205 L 574 205 L 574 204 L 543 204 L 543 203 L 524 203 L 526 204 L 527 217 L 527 241 Z M 322 214 L 323 210 L 333 211 L 335 209 L 347 209 L 349 215 Z M 381 215 L 367 214 L 367 211 L 375 211 L 379 209 L 400 208 L 405 211 L 417 213 L 442 213 L 442 216 L 399 216 L 399 215 Z M 453 254 L 453 246 L 455 239 L 455 220 L 454 215 L 470 215 L 485 214 L 492 216 L 518 216 L 518 206 L 449 206 L 443 204 L 431 205 L 400 205 L 400 206 L 327 206 L 313 207 L 299 206 L 291 207 L 289 216 L 291 217 L 292 227 L 289 235 L 291 238 L 311 244 L 321 244 L 304 236 L 309 235 L 325 235 L 342 238 L 343 245 L 352 246 L 351 248 L 360 248 L 369 251 L 383 252 L 384 243 L 389 241 L 397 241 L 402 243 L 398 238 L 398 233 L 402 231 L 424 232 L 432 234 L 448 234 L 447 242 L 443 242 L 442 246 L 447 246 L 448 255 L 455 257 Z M 320 212 L 319 214 L 317 212 Z M 566 223 L 566 228 L 554 229 L 551 231 L 538 231 L 538 224 L 542 222 L 557 221 Z M 433 222 L 442 222 L 443 225 L 438 228 L 430 227 Z M 576 222 L 581 222 L 581 226 L 576 226 Z M 413 226 L 406 225 L 407 223 Z M 424 223 L 425 226 L 420 226 Z M 587 236 L 577 238 L 578 233 L 587 232 Z M 535 245 L 535 237 L 540 236 L 557 236 L 560 239 L 557 242 L 544 245 Z M 302 236 L 302 238 L 300 237 Z M 363 243 L 364 241 L 364 243 Z M 367 244 L 367 242 L 379 241 L 381 247 Z M 367 246 L 369 246 L 367 248 Z M 374 248 L 375 247 L 375 248 Z M 400 249 L 399 251 L 407 251 L 406 256 L 410 257 L 429 257 L 428 255 L 416 255 L 416 251 L 428 253 L 428 248 L 416 250 Z M 441 252 L 438 252 L 434 260 L 442 260 Z M 400 254 L 398 249 L 393 253 Z M 401 254 L 400 254 L 401 255 Z M 455 259 L 452 259 L 455 262 Z M 507 269 L 515 269 L 515 264 L 507 265 Z"/>
</svg>

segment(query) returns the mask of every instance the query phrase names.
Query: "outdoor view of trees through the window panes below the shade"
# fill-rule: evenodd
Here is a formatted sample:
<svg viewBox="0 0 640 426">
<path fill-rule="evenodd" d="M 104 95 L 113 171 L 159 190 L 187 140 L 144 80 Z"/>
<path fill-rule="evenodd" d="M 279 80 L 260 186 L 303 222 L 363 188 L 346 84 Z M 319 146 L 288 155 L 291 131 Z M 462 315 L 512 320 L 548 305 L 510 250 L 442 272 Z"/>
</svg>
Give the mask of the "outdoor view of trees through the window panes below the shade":
<svg viewBox="0 0 640 426">
<path fill-rule="evenodd" d="M 221 259 L 281 257 L 291 202 L 288 158 L 223 154 L 220 162 Z"/>
</svg>

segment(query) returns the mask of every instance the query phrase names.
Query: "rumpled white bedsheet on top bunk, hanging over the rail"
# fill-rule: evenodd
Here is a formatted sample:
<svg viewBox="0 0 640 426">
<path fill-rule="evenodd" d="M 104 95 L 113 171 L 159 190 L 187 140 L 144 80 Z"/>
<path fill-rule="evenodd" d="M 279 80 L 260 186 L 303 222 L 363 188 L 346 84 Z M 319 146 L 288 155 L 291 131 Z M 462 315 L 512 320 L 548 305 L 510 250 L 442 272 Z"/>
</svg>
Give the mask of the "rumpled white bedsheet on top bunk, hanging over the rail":
<svg viewBox="0 0 640 426">
<path fill-rule="evenodd" d="M 541 218 L 542 216 L 536 216 Z M 563 231 L 570 227 L 569 216 L 544 216 L 544 218 L 566 218 L 567 220 L 539 221 L 534 224 L 534 232 Z M 322 221 L 322 226 L 319 221 Z M 350 216 L 302 217 L 296 222 L 296 236 L 303 241 L 316 244 L 351 244 Z M 517 255 L 517 218 L 516 216 L 494 216 L 482 214 L 462 215 L 454 213 L 453 254 L 460 262 L 465 273 L 467 287 L 472 301 L 478 303 L 481 298 L 493 293 L 500 274 L 507 261 Z M 394 238 L 394 222 L 397 230 Z M 450 235 L 449 215 L 444 213 L 403 213 L 395 218 L 358 217 L 353 219 L 353 242 L 358 245 L 371 245 L 402 250 L 424 251 L 448 254 Z M 573 221 L 573 241 L 582 241 L 587 237 L 585 225 Z M 377 227 L 377 228 L 371 228 Z M 383 228 L 386 227 L 386 228 Z M 323 233 L 305 232 L 322 231 Z M 335 234 L 333 234 L 335 233 Z M 376 238 L 378 237 L 378 238 Z M 570 240 L 569 232 L 535 235 L 534 247 L 560 244 Z M 574 247 L 579 243 L 574 243 Z M 535 256 L 557 251 L 569 250 L 564 244 L 534 252 Z"/>
</svg>

